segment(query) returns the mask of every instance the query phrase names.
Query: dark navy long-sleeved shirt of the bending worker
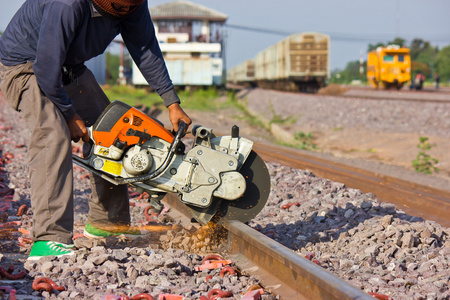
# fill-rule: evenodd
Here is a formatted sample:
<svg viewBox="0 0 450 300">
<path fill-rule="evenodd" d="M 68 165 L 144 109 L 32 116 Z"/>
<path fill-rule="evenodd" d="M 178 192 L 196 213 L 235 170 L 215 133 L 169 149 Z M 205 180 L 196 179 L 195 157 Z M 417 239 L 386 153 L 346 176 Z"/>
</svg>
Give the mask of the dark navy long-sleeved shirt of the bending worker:
<svg viewBox="0 0 450 300">
<path fill-rule="evenodd" d="M 75 114 L 62 84 L 62 66 L 80 65 L 103 53 L 120 33 L 136 65 L 166 106 L 179 102 L 155 37 L 147 1 L 113 20 L 91 11 L 89 0 L 27 0 L 0 37 L 0 61 L 31 61 L 40 89 L 62 111 Z"/>
</svg>

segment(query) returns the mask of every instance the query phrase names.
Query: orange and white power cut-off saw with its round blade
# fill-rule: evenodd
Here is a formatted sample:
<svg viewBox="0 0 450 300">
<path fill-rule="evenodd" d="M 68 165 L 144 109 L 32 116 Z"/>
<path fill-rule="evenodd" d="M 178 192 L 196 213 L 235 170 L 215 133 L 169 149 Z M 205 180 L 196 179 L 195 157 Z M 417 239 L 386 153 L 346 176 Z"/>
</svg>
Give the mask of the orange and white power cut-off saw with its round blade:
<svg viewBox="0 0 450 300">
<path fill-rule="evenodd" d="M 185 124 L 174 135 L 159 121 L 123 102 L 112 102 L 88 128 L 89 153 L 73 155 L 81 167 L 116 184 L 149 193 L 161 206 L 166 193 L 176 193 L 202 225 L 210 221 L 248 222 L 265 206 L 270 176 L 253 142 L 239 136 L 215 136 L 195 125 L 190 150 L 181 141 Z"/>
</svg>

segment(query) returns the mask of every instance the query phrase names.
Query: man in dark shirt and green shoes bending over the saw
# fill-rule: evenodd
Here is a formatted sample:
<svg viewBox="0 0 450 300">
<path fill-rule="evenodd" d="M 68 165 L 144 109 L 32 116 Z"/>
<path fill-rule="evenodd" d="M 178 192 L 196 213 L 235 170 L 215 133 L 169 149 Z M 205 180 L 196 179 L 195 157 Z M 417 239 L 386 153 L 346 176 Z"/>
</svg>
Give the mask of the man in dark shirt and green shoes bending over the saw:
<svg viewBox="0 0 450 300">
<path fill-rule="evenodd" d="M 86 127 L 109 104 L 84 62 L 118 34 L 168 107 L 174 130 L 182 121 L 188 127 L 191 119 L 174 91 L 146 0 L 26 0 L 0 37 L 0 89 L 31 131 L 30 260 L 74 254 L 71 140 L 89 142 Z M 85 234 L 137 233 L 129 226 L 127 186 L 90 175 Z"/>
</svg>

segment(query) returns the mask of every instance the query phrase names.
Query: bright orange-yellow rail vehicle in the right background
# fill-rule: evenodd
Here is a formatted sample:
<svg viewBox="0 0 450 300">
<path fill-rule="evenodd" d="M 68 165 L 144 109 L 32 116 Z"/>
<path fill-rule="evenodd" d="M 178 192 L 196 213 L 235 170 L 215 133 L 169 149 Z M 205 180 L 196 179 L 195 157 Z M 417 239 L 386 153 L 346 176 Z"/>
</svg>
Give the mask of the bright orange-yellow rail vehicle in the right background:
<svg viewBox="0 0 450 300">
<path fill-rule="evenodd" d="M 401 89 L 410 80 L 411 57 L 408 48 L 390 45 L 369 52 L 367 81 L 374 88 Z"/>
</svg>

